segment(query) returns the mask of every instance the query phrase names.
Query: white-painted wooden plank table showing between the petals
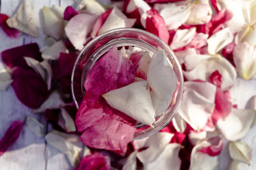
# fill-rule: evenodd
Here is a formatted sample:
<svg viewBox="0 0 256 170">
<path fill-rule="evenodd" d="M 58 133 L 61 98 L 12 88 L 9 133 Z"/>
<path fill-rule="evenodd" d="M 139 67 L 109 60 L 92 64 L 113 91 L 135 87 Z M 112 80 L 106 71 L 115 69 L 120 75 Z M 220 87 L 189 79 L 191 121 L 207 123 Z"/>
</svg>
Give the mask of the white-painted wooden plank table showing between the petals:
<svg viewBox="0 0 256 170">
<path fill-rule="evenodd" d="M 6 13 L 12 16 L 20 0 L 0 0 L 0 13 Z M 60 6 L 71 5 L 72 0 L 33 0 L 31 4 L 34 6 L 35 13 L 42 14 L 43 6 L 52 6 L 57 4 Z M 40 18 L 42 20 L 42 17 Z M 38 17 L 39 20 L 39 17 Z M 0 29 L 0 52 L 11 47 L 17 47 L 22 44 L 37 42 L 42 47 L 44 42 L 44 34 L 42 29 L 40 31 L 40 38 L 33 38 L 28 35 L 22 35 L 19 38 L 11 39 L 4 35 L 3 30 Z M 253 82 L 256 87 L 256 82 Z M 256 95 L 256 91 L 255 91 Z M 26 116 L 33 116 L 42 121 L 45 121 L 42 115 L 31 113 L 31 109 L 22 105 L 12 87 L 6 91 L 0 91 L 0 138 L 3 137 L 4 132 L 10 126 L 12 121 L 24 120 Z M 256 169 L 256 126 L 242 139 L 243 142 L 254 146 L 253 160 L 250 167 L 244 166 L 244 169 Z M 227 150 L 227 143 L 221 152 L 219 158 L 220 164 L 216 169 L 227 169 L 230 158 Z M 63 153 L 52 148 L 45 142 L 44 137 L 37 137 L 33 134 L 26 125 L 22 129 L 19 139 L 13 144 L 9 150 L 0 157 L 0 170 L 66 170 L 72 169 Z"/>
</svg>

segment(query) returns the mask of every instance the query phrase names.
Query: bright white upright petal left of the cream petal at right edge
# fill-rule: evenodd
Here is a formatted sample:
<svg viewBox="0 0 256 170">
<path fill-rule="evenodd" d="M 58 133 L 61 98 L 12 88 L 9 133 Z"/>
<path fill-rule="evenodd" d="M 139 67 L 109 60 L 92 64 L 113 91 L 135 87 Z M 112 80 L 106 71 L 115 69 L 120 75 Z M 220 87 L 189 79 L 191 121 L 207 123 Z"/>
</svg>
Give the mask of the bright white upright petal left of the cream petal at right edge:
<svg viewBox="0 0 256 170">
<path fill-rule="evenodd" d="M 208 40 L 208 52 L 209 54 L 217 54 L 223 47 L 231 43 L 234 36 L 230 29 L 227 27 L 214 33 Z"/>
</svg>

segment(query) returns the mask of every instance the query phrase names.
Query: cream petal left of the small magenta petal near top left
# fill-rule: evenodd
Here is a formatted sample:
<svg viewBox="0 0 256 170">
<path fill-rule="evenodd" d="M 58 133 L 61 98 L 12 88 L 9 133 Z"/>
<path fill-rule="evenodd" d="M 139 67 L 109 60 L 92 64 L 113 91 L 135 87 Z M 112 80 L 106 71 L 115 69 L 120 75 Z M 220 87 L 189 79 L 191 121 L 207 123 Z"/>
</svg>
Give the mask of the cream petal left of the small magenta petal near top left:
<svg viewBox="0 0 256 170">
<path fill-rule="evenodd" d="M 51 8 L 44 6 L 44 33 L 45 35 L 52 36 L 56 40 L 59 40 L 64 33 L 64 21 L 63 18 L 58 17 Z"/>
</svg>

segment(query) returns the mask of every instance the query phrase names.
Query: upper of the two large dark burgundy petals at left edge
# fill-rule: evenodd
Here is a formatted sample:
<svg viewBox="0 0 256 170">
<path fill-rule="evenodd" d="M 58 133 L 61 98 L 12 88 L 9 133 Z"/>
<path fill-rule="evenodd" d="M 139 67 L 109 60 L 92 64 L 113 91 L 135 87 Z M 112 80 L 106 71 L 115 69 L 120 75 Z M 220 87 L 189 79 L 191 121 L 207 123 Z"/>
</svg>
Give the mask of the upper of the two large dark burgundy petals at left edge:
<svg viewBox="0 0 256 170">
<path fill-rule="evenodd" d="M 29 43 L 14 47 L 12 49 L 1 52 L 2 61 L 4 65 L 13 68 L 15 66 L 28 67 L 24 57 L 29 57 L 42 61 L 41 52 L 37 43 Z"/>
</svg>

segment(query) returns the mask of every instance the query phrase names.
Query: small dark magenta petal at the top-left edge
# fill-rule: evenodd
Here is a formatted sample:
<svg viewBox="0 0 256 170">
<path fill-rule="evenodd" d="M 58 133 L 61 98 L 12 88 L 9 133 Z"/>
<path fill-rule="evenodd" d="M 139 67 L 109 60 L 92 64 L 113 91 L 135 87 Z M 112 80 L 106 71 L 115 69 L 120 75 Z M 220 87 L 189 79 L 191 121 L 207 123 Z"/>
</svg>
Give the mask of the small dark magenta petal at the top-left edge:
<svg viewBox="0 0 256 170">
<path fill-rule="evenodd" d="M 10 38 L 17 38 L 20 35 L 20 32 L 13 27 L 9 27 L 8 24 L 6 24 L 6 20 L 8 20 L 8 18 L 9 17 L 4 13 L 0 13 L 0 27 L 3 28 L 4 33 L 6 33 L 6 35 Z"/>
</svg>

